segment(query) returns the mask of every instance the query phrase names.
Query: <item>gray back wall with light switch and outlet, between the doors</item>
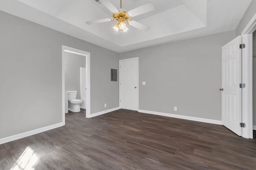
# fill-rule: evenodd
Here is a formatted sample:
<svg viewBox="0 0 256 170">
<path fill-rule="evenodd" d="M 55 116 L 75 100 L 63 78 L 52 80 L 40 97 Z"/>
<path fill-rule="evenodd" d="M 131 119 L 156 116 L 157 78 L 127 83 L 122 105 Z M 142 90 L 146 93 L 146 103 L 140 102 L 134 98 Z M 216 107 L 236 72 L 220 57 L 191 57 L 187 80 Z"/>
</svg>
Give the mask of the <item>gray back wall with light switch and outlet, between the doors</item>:
<svg viewBox="0 0 256 170">
<path fill-rule="evenodd" d="M 139 109 L 221 120 L 221 47 L 235 35 L 228 31 L 120 53 L 120 59 L 139 57 Z"/>
</svg>

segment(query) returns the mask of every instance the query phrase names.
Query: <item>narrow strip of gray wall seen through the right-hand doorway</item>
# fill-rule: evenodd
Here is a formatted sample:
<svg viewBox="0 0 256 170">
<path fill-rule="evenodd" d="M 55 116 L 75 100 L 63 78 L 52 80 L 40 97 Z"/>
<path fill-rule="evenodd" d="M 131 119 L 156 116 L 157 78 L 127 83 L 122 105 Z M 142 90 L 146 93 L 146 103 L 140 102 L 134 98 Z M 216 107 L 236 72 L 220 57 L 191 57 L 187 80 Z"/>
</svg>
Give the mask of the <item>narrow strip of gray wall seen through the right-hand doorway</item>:
<svg viewBox="0 0 256 170">
<path fill-rule="evenodd" d="M 252 80 L 253 80 L 253 85 L 252 85 L 252 102 L 253 102 L 253 125 L 256 126 L 256 31 L 253 33 L 253 53 L 252 56 L 255 56 L 253 58 L 253 71 L 252 71 Z"/>
</svg>

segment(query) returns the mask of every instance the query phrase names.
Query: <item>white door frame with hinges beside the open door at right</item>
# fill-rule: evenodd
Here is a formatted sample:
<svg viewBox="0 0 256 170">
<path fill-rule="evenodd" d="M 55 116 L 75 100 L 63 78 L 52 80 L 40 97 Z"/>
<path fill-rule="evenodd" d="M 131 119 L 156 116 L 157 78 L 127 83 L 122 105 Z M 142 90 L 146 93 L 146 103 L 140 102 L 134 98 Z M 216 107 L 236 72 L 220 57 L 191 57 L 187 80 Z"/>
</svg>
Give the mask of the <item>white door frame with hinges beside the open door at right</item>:
<svg viewBox="0 0 256 170">
<path fill-rule="evenodd" d="M 256 30 L 256 14 L 242 31 L 242 83 L 246 86 L 242 89 L 242 123 L 246 123 L 242 128 L 242 137 L 253 138 L 252 122 L 252 33 Z"/>
</svg>

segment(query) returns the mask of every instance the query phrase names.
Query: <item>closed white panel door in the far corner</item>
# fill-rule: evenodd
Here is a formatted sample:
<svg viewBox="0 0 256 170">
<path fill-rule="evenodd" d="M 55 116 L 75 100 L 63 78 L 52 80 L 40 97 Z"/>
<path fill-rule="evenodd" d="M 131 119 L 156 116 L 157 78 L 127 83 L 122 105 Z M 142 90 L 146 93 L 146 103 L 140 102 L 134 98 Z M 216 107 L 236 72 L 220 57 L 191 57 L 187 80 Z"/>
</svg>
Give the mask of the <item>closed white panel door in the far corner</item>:
<svg viewBox="0 0 256 170">
<path fill-rule="evenodd" d="M 138 58 L 119 61 L 120 108 L 138 110 Z"/>
</svg>

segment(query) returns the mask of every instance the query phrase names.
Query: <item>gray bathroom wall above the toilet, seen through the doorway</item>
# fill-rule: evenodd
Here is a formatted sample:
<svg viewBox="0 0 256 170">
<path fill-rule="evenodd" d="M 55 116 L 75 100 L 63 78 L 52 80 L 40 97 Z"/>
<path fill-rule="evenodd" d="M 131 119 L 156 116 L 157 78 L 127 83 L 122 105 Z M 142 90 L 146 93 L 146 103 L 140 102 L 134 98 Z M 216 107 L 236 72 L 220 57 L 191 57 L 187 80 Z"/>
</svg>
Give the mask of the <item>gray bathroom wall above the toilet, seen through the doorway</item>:
<svg viewBox="0 0 256 170">
<path fill-rule="evenodd" d="M 65 52 L 65 90 L 76 90 L 80 97 L 80 67 L 86 67 L 86 57 Z"/>
</svg>

